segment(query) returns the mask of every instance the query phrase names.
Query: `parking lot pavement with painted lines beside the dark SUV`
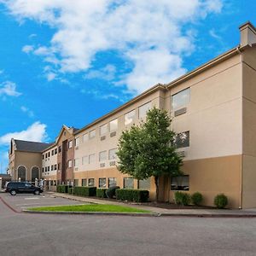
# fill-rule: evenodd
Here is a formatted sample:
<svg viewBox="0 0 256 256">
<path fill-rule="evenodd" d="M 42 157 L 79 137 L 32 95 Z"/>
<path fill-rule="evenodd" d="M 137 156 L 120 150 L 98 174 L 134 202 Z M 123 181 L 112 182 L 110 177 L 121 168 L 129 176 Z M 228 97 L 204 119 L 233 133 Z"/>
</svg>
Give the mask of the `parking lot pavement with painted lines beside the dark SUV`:
<svg viewBox="0 0 256 256">
<path fill-rule="evenodd" d="M 17 194 L 9 195 L 9 193 L 1 193 L 3 201 L 17 212 L 28 207 L 48 207 L 48 206 L 66 206 L 81 205 L 79 201 L 73 201 L 67 198 L 55 197 L 51 193 L 43 193 L 41 195 L 33 194 Z"/>
</svg>

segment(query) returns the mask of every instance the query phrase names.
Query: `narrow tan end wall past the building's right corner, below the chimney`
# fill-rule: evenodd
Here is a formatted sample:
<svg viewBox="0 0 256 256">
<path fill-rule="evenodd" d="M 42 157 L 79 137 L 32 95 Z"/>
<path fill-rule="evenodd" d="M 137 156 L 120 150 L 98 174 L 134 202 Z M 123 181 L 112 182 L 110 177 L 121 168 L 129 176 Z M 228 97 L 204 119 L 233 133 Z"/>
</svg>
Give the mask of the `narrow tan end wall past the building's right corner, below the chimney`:
<svg viewBox="0 0 256 256">
<path fill-rule="evenodd" d="M 243 52 L 242 207 L 256 207 L 256 49 Z"/>
</svg>

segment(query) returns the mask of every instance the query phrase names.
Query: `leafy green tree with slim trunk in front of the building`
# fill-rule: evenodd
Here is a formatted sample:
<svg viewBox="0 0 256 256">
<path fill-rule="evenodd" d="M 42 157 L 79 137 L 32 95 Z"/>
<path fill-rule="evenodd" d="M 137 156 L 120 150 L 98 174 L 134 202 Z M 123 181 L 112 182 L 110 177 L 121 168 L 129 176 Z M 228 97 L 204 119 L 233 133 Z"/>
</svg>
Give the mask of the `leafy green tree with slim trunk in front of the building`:
<svg viewBox="0 0 256 256">
<path fill-rule="evenodd" d="M 160 176 L 182 174 L 182 157 L 172 145 L 176 134 L 170 129 L 171 121 L 166 111 L 152 108 L 148 110 L 145 122 L 131 126 L 119 138 L 119 172 L 137 179 L 154 176 L 156 201 Z"/>
</svg>

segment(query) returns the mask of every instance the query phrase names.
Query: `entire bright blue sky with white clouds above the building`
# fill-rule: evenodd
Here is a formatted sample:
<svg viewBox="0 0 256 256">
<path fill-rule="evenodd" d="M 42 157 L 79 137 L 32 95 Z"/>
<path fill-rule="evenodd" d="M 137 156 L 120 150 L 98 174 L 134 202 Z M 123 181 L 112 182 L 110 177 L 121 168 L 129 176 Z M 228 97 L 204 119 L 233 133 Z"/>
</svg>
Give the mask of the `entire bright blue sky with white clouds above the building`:
<svg viewBox="0 0 256 256">
<path fill-rule="evenodd" d="M 179 3 L 180 2 L 180 3 Z M 239 44 L 253 0 L 0 0 L 0 172 L 9 139 L 51 142 Z"/>
</svg>

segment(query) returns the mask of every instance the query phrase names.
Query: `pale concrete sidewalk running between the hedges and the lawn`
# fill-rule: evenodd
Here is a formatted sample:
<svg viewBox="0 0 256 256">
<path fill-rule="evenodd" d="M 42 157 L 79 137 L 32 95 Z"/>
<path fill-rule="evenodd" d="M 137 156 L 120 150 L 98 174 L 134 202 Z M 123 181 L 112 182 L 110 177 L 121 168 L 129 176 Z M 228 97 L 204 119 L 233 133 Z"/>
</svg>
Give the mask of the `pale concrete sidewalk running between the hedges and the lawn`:
<svg viewBox="0 0 256 256">
<path fill-rule="evenodd" d="M 157 216 L 178 216 L 178 217 L 234 217 L 234 218 L 256 218 L 256 208 L 242 210 L 219 210 L 219 209 L 163 209 L 159 207 L 148 207 L 137 203 L 124 203 L 119 201 L 107 201 L 91 197 L 81 197 L 62 193 L 53 193 L 52 196 L 63 197 L 84 203 L 125 205 L 138 209 L 148 210 Z"/>
</svg>

